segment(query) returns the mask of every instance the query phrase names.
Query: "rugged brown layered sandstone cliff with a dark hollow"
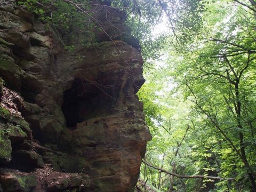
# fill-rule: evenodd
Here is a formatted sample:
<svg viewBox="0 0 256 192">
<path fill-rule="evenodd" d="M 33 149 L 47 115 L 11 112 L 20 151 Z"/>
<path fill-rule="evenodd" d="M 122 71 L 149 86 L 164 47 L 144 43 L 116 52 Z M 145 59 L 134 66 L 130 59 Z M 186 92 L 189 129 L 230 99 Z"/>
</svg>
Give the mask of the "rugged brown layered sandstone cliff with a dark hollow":
<svg viewBox="0 0 256 192">
<path fill-rule="evenodd" d="M 21 95 L 10 99 L 18 114 L 0 115 L 2 188 L 19 186 L 20 173 L 6 169 L 33 172 L 51 164 L 60 175 L 86 175 L 87 184 L 81 175 L 55 185 L 39 185 L 37 178 L 37 185 L 20 191 L 133 191 L 151 135 L 136 95 L 145 81 L 143 61 L 124 13 L 108 8 L 95 14 L 113 41 L 95 30 L 97 46 L 78 44 L 68 52 L 14 1 L 2 0 L 0 7 L 0 77 Z"/>
</svg>

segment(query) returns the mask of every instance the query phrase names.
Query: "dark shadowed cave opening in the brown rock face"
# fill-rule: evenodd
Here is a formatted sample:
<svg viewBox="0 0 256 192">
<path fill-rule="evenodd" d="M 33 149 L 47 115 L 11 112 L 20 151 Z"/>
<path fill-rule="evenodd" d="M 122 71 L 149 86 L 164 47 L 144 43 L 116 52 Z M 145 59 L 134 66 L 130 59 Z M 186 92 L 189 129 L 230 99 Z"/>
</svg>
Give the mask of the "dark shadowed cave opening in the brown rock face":
<svg viewBox="0 0 256 192">
<path fill-rule="evenodd" d="M 109 97 L 111 92 L 113 90 L 102 90 L 90 82 L 75 79 L 72 87 L 63 93 L 62 112 L 67 127 L 75 129 L 77 123 L 110 113 L 115 101 Z"/>
</svg>

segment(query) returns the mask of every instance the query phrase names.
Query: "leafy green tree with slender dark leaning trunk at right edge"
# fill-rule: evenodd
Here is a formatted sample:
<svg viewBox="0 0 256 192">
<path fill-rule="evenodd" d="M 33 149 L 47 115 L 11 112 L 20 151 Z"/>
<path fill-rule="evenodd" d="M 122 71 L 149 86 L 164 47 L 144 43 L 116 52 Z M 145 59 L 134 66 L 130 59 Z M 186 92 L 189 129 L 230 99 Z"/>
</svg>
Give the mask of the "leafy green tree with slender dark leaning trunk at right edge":
<svg viewBox="0 0 256 192">
<path fill-rule="evenodd" d="M 251 116 L 246 114 L 246 109 L 250 107 L 248 104 L 253 103 L 252 93 L 255 93 L 250 84 L 255 79 L 255 39 L 252 36 L 255 19 L 244 9 L 244 5 L 228 8 L 229 2 L 222 3 L 233 14 L 228 21 L 218 21 L 217 18 L 216 22 L 206 17 L 206 22 L 212 25 L 203 29 L 206 33 L 203 38 L 199 37 L 201 42 L 193 44 L 179 71 L 185 76 L 183 83 L 187 86 L 187 98 L 195 103 L 199 113 L 214 125 L 236 152 L 244 164 L 242 168 L 253 191 L 256 191 L 253 177 L 255 164 L 250 164 L 251 160 L 248 159 L 249 154 L 255 155 L 255 150 L 248 145 L 254 140 L 254 134 L 248 132 L 255 130 L 249 123 L 252 119 L 247 121 Z M 220 13 L 225 12 L 222 10 Z M 249 19 L 254 21 L 249 22 Z M 215 31 L 211 33 L 209 29 Z M 255 111 L 250 111 L 255 114 Z"/>
</svg>

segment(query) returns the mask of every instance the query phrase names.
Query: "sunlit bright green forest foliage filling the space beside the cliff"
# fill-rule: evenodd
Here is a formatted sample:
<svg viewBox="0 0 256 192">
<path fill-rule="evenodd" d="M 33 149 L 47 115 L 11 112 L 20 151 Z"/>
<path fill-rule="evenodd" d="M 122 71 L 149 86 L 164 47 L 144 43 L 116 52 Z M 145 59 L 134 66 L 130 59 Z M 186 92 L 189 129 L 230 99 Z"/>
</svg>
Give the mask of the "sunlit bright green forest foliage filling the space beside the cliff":
<svg viewBox="0 0 256 192">
<path fill-rule="evenodd" d="M 256 2 L 162 3 L 168 43 L 139 92 L 153 134 L 142 179 L 160 191 L 256 191 Z"/>
</svg>

